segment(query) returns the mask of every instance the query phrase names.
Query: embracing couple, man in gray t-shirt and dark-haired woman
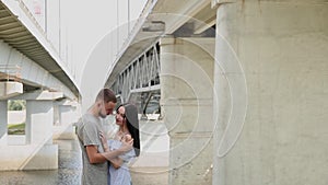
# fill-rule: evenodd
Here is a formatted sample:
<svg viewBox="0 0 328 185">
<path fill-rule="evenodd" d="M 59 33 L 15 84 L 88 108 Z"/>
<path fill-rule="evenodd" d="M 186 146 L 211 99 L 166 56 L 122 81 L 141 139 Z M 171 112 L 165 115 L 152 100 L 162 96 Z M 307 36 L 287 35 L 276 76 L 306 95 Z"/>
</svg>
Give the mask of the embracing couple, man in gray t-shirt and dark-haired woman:
<svg viewBox="0 0 328 185">
<path fill-rule="evenodd" d="M 114 139 L 107 140 L 102 118 L 113 114 L 116 96 L 103 89 L 95 103 L 77 124 L 82 150 L 82 185 L 130 185 L 128 163 L 140 153 L 139 120 L 137 107 L 119 105 L 116 124 L 119 126 Z"/>
</svg>

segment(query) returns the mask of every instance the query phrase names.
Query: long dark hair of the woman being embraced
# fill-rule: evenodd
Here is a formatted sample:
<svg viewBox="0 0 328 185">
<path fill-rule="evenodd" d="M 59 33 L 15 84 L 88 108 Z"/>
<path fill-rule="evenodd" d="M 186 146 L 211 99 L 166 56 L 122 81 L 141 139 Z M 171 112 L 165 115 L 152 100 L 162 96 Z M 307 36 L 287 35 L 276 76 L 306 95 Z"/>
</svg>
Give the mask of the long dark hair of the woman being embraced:
<svg viewBox="0 0 328 185">
<path fill-rule="evenodd" d="M 124 106 L 126 108 L 126 118 L 127 118 L 127 127 L 131 137 L 133 138 L 133 148 L 136 151 L 136 155 L 139 157 L 140 154 L 140 137 L 139 137 L 139 119 L 138 119 L 138 109 L 137 106 L 133 104 L 121 104 L 117 107 L 118 108 Z"/>
</svg>

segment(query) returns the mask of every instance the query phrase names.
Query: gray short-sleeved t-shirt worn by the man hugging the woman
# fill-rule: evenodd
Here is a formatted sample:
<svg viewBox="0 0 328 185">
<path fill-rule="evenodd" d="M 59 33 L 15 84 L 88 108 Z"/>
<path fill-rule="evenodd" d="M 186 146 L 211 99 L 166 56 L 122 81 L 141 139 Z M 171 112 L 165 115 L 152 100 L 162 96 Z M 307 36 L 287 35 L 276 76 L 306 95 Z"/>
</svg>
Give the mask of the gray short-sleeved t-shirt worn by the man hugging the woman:
<svg viewBox="0 0 328 185">
<path fill-rule="evenodd" d="M 82 185 L 106 185 L 108 163 L 91 164 L 86 154 L 86 146 L 96 146 L 98 152 L 104 152 L 103 144 L 99 139 L 102 129 L 101 119 L 85 114 L 77 124 L 77 134 L 82 150 Z"/>
</svg>

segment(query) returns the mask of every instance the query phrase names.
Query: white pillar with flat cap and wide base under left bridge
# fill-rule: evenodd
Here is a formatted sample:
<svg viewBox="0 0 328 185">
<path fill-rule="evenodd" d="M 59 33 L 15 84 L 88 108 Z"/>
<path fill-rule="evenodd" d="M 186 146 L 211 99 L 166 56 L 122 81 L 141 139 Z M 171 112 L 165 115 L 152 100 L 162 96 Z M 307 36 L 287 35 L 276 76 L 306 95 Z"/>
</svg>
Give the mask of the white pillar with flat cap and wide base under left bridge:
<svg viewBox="0 0 328 185">
<path fill-rule="evenodd" d="M 0 146 L 1 170 L 58 169 L 58 146 L 52 144 L 52 101 L 60 92 L 39 91 L 15 96 L 26 100 L 25 144 Z"/>
</svg>

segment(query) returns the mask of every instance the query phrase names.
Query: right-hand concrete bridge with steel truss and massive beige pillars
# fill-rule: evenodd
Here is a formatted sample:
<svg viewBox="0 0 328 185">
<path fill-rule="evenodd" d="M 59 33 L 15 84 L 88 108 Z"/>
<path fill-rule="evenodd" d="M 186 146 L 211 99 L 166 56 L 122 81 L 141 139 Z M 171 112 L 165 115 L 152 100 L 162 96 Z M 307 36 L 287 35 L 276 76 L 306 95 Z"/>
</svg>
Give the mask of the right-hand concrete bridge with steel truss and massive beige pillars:
<svg viewBox="0 0 328 185">
<path fill-rule="evenodd" d="M 324 185 L 327 15 L 325 0 L 149 0 L 104 38 L 104 86 L 142 114 L 159 102 L 168 184 Z"/>
</svg>

